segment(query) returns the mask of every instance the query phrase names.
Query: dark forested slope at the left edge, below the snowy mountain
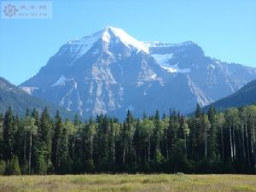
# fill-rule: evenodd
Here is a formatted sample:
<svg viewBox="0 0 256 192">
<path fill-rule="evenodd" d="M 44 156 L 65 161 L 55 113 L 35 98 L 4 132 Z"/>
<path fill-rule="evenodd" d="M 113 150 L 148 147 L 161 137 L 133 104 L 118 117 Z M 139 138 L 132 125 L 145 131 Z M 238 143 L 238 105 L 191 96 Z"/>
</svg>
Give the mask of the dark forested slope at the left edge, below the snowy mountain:
<svg viewBox="0 0 256 192">
<path fill-rule="evenodd" d="M 29 108 L 30 111 L 32 111 L 33 108 L 37 108 L 38 111 L 41 112 L 45 107 L 49 109 L 51 116 L 55 115 L 56 110 L 59 110 L 63 117 L 73 119 L 74 115 L 74 113 L 69 113 L 54 104 L 44 102 L 41 99 L 26 94 L 24 90 L 21 90 L 14 84 L 10 84 L 6 79 L 0 77 L 0 112 L 4 113 L 9 107 L 13 108 L 14 112 L 20 115 L 26 113 L 26 108 Z"/>
</svg>

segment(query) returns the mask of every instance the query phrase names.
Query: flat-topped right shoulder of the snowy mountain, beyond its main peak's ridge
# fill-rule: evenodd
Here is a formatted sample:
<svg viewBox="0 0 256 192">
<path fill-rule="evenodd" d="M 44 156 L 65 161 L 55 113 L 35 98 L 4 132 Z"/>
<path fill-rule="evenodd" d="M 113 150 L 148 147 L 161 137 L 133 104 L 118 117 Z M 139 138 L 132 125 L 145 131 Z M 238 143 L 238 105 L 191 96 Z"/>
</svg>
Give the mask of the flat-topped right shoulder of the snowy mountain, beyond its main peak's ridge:
<svg viewBox="0 0 256 192">
<path fill-rule="evenodd" d="M 186 74 L 205 96 L 204 101 L 201 101 L 203 106 L 230 95 L 256 77 L 255 68 L 235 63 L 229 64 L 205 56 L 201 47 L 193 42 L 183 44 L 154 43 L 151 44 L 150 54 L 156 58 L 162 67 L 169 69 L 170 73 L 180 71 Z M 167 61 L 158 59 L 159 56 L 165 55 L 171 55 L 171 57 Z"/>
</svg>

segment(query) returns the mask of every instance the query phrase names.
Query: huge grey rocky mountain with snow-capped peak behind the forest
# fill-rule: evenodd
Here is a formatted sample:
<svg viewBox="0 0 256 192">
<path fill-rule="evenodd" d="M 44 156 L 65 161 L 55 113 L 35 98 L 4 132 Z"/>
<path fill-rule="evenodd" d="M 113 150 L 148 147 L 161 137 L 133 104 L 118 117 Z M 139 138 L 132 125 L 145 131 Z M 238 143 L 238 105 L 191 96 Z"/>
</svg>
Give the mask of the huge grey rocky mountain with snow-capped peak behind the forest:
<svg viewBox="0 0 256 192">
<path fill-rule="evenodd" d="M 84 116 L 123 117 L 177 108 L 189 113 L 256 79 L 256 69 L 204 55 L 193 42 L 143 43 L 107 26 L 67 42 L 20 87 Z"/>
</svg>

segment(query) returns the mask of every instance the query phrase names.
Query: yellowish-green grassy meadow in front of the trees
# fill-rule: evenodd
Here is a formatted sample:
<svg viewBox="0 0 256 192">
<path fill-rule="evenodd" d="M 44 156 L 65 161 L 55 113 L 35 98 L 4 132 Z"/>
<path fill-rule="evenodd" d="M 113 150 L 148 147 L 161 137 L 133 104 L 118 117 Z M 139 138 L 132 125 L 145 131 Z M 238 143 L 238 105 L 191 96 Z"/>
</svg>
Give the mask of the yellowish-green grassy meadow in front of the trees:
<svg viewBox="0 0 256 192">
<path fill-rule="evenodd" d="M 0 177 L 0 191 L 256 191 L 256 175 L 65 175 Z"/>
</svg>

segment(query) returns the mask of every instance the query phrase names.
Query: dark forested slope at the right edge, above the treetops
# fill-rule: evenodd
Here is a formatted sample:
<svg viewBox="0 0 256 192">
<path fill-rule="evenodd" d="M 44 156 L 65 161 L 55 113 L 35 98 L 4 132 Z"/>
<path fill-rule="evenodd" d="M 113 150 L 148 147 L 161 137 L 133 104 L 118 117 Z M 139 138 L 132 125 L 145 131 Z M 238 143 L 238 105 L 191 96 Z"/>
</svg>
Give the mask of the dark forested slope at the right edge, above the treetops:
<svg viewBox="0 0 256 192">
<path fill-rule="evenodd" d="M 213 102 L 211 105 L 217 109 L 237 108 L 256 103 L 256 80 L 243 86 L 236 93 Z"/>
</svg>

